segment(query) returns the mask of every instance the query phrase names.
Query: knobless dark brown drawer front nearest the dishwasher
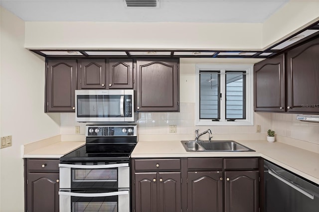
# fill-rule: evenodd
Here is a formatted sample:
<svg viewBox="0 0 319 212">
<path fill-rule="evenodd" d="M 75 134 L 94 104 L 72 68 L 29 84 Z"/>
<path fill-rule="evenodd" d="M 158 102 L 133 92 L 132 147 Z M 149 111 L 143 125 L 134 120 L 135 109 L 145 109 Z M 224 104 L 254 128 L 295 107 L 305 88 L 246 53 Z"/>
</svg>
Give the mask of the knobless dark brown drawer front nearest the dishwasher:
<svg viewBox="0 0 319 212">
<path fill-rule="evenodd" d="M 258 169 L 258 158 L 225 158 L 225 169 Z"/>
</svg>

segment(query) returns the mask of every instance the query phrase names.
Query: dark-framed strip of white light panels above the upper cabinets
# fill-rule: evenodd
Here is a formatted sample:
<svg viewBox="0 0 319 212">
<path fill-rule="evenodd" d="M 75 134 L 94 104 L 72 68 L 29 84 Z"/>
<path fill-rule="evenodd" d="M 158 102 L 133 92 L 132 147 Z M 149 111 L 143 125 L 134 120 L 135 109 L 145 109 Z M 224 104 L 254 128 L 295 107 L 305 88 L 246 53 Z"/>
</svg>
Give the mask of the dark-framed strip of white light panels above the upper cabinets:
<svg viewBox="0 0 319 212">
<path fill-rule="evenodd" d="M 246 50 L 95 50 L 30 49 L 43 57 L 175 57 L 175 58 L 269 58 L 319 35 L 319 21 L 260 51 Z"/>
</svg>

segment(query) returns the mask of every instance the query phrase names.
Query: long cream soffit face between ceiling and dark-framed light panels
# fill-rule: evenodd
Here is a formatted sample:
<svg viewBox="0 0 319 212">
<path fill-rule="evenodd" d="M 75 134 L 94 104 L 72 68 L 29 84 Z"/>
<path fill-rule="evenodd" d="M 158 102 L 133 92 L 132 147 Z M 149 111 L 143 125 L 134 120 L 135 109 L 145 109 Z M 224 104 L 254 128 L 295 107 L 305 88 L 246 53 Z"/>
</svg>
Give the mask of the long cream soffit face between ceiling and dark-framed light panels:
<svg viewBox="0 0 319 212">
<path fill-rule="evenodd" d="M 261 23 L 25 24 L 25 47 L 32 49 L 260 49 L 262 38 Z"/>
</svg>

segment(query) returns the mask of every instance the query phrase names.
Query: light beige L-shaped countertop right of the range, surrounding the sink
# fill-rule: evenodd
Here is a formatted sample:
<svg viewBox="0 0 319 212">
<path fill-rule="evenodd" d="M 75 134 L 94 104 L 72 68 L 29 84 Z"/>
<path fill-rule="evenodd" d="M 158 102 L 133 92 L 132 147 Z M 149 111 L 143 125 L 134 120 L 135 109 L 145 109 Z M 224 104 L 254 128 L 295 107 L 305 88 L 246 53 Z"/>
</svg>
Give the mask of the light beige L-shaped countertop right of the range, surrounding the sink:
<svg viewBox="0 0 319 212">
<path fill-rule="evenodd" d="M 172 157 L 263 157 L 310 181 L 319 184 L 319 154 L 281 142 L 235 140 L 256 152 L 187 152 L 180 140 L 139 141 L 132 158 Z M 214 142 L 214 141 L 212 141 Z"/>
</svg>

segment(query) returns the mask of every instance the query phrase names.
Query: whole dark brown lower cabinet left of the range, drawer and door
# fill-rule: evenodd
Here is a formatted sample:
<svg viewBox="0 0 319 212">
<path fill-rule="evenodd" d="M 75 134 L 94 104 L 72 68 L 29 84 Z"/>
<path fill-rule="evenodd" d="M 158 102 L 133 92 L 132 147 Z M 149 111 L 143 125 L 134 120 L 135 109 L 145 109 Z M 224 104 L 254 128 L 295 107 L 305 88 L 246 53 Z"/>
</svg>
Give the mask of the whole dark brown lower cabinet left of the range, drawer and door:
<svg viewBox="0 0 319 212">
<path fill-rule="evenodd" d="M 58 164 L 58 159 L 25 159 L 26 212 L 59 212 Z"/>
</svg>

